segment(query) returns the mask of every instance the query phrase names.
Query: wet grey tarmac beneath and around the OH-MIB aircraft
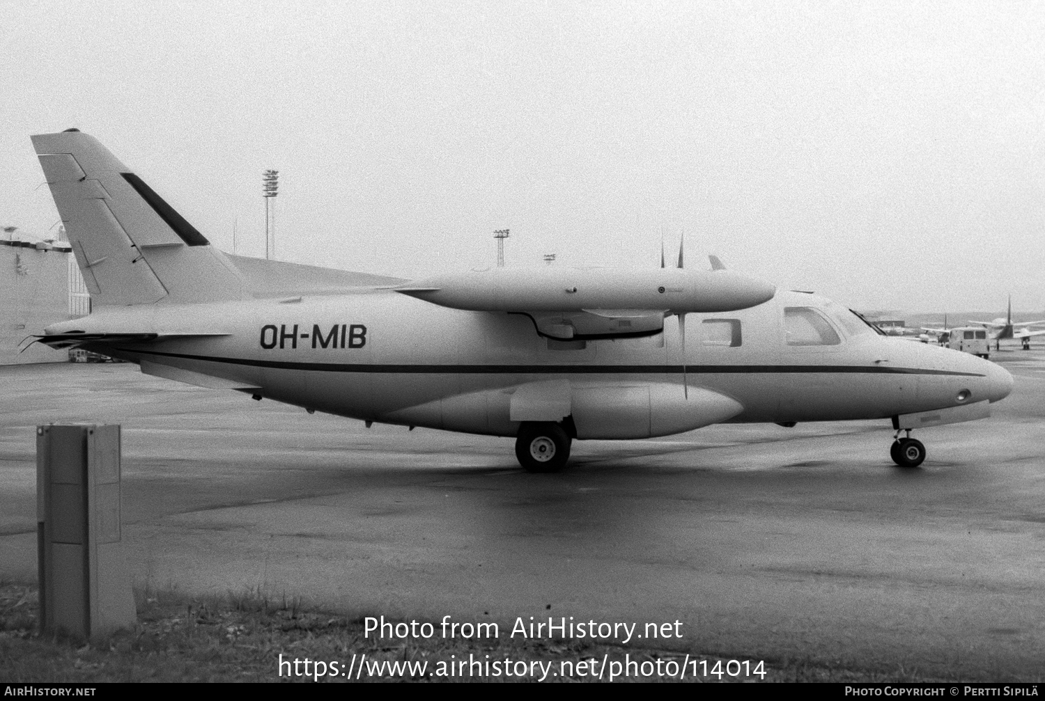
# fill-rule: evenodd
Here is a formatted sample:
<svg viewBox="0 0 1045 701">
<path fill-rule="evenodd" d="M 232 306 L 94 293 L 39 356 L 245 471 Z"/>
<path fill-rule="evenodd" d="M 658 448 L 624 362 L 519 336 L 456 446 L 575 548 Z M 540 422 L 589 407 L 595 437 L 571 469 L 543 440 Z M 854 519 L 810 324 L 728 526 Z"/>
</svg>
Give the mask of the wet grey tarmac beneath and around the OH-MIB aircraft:
<svg viewBox="0 0 1045 701">
<path fill-rule="evenodd" d="M 720 425 L 574 444 L 309 416 L 127 365 L 0 368 L 0 579 L 36 580 L 34 426 L 123 425 L 139 587 L 349 614 L 681 622 L 658 647 L 927 673 L 1045 675 L 1045 352 L 984 421 Z"/>
</svg>

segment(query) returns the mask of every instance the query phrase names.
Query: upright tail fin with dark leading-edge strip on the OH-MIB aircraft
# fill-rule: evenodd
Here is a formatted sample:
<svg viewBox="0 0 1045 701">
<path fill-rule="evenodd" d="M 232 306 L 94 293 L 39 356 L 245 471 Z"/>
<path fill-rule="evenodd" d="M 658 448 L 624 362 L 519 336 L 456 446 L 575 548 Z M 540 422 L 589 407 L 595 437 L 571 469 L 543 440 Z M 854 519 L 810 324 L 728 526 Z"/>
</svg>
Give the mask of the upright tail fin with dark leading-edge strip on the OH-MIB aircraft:
<svg viewBox="0 0 1045 701">
<path fill-rule="evenodd" d="M 97 304 L 242 299 L 225 255 L 94 137 L 32 137 L 84 281 Z"/>
</svg>

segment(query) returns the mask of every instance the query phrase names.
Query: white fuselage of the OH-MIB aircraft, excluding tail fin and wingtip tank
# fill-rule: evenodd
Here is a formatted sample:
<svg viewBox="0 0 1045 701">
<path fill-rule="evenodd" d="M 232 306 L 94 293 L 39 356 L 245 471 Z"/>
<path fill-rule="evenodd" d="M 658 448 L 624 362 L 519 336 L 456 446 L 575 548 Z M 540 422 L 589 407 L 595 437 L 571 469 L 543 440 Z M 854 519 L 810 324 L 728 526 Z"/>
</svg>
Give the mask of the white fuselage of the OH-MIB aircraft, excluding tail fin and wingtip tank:
<svg viewBox="0 0 1045 701">
<path fill-rule="evenodd" d="M 805 327 L 791 328 L 794 320 L 810 313 L 828 320 L 827 343 L 815 332 L 792 337 L 806 333 Z M 709 391 L 737 402 L 739 411 L 721 407 L 714 421 L 678 418 L 701 395 L 683 397 L 682 345 L 670 319 L 663 333 L 646 337 L 562 342 L 538 335 L 526 314 L 450 309 L 368 290 L 292 301 L 109 307 L 49 331 L 154 331 L 160 340 L 148 344 L 86 347 L 144 363 L 143 369 L 157 364 L 224 378 L 309 410 L 496 436 L 516 434 L 512 395 L 534 383 L 567 383 L 575 418 L 585 392 L 597 408 L 618 401 L 634 412 L 637 398 L 642 411 L 664 417 L 620 436 L 600 419 L 579 438 L 596 437 L 593 430 L 602 431 L 599 438 L 667 435 L 718 420 L 888 418 L 995 401 L 1012 387 L 1011 376 L 992 363 L 878 335 L 839 305 L 807 294 L 779 293 L 752 308 L 691 313 L 687 322 L 689 395 Z M 223 335 L 163 340 L 189 329 Z M 959 399 L 962 391 L 968 395 Z"/>
</svg>

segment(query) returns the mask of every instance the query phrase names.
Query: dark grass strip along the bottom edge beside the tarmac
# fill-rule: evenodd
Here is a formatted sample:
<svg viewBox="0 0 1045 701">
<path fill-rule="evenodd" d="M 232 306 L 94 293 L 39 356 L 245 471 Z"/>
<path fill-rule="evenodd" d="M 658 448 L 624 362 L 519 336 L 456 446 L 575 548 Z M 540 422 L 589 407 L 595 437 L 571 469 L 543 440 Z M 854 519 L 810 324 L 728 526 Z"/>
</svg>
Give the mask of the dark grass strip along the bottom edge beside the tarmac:
<svg viewBox="0 0 1045 701">
<path fill-rule="evenodd" d="M 364 637 L 364 622 L 338 613 L 302 606 L 301 600 L 258 590 L 228 592 L 218 597 L 190 597 L 178 591 L 149 587 L 136 591 L 138 623 L 131 630 L 85 640 L 69 635 L 41 635 L 38 632 L 38 591 L 34 586 L 0 585 L 0 679 L 9 682 L 112 681 L 314 681 L 317 669 L 304 660 L 321 660 L 325 674 L 320 681 L 536 681 L 542 670 L 545 681 L 599 681 L 596 665 L 604 659 L 624 662 L 625 655 L 647 670 L 660 661 L 667 672 L 683 664 L 686 653 L 629 645 L 598 645 L 576 640 L 443 640 L 439 626 L 432 622 L 436 636 L 429 639 L 375 640 Z M 280 654 L 284 665 L 280 676 Z M 365 655 L 365 658 L 363 657 Z M 354 656 L 354 662 L 353 660 Z M 691 652 L 690 659 L 706 660 L 712 670 L 717 661 L 745 659 L 742 655 Z M 293 660 L 297 659 L 297 670 Z M 450 675 L 451 664 L 462 660 L 486 662 L 510 660 L 538 663 L 533 675 Z M 363 661 L 365 660 L 365 662 Z M 572 676 L 554 676 L 563 670 Z M 752 661 L 753 662 L 757 660 Z M 330 676 L 338 662 L 336 676 Z M 578 662 L 581 662 L 578 665 Z M 390 669 L 387 664 L 397 664 Z M 440 664 L 444 674 L 440 675 Z M 540 667 L 543 664 L 544 667 Z M 375 665 L 381 665 L 380 669 Z M 466 664 L 467 667 L 467 664 Z M 692 668 L 691 663 L 691 668 Z M 460 669 L 460 668 L 458 668 Z M 487 670 L 491 668 L 485 668 Z M 503 669 L 503 668 L 502 668 Z M 611 669 L 611 668 L 610 668 Z M 704 668 L 696 667 L 697 670 Z M 724 669 L 720 668 L 720 669 Z M 736 668 L 735 668 L 736 669 Z M 472 667 L 473 673 L 479 668 Z M 583 670 L 583 674 L 577 674 Z M 296 675 L 294 672 L 299 674 Z M 927 677 L 916 670 L 866 670 L 810 660 L 765 661 L 764 681 L 948 681 Z M 641 672 L 640 672 L 641 675 Z M 603 675 L 608 681 L 609 671 Z M 666 675 L 635 676 L 630 681 L 671 681 Z M 684 681 L 719 681 L 715 676 Z M 968 679 L 967 679 L 968 680 Z M 760 677 L 729 677 L 722 681 L 762 681 Z M 953 680 L 951 680 L 953 681 Z"/>
</svg>

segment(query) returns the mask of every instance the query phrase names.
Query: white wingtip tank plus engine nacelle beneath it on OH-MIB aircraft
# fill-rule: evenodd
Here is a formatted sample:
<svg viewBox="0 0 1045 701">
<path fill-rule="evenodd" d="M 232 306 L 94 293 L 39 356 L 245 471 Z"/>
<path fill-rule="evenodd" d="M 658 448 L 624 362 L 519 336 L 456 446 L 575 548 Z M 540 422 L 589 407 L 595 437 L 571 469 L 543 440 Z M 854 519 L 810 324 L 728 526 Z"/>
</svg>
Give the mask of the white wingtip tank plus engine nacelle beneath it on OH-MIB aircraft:
<svg viewBox="0 0 1045 701">
<path fill-rule="evenodd" d="M 684 268 L 492 268 L 392 286 L 432 304 L 529 316 L 553 338 L 658 333 L 664 319 L 746 309 L 772 299 L 772 285 L 732 271 Z"/>
</svg>

